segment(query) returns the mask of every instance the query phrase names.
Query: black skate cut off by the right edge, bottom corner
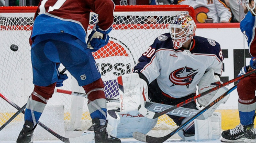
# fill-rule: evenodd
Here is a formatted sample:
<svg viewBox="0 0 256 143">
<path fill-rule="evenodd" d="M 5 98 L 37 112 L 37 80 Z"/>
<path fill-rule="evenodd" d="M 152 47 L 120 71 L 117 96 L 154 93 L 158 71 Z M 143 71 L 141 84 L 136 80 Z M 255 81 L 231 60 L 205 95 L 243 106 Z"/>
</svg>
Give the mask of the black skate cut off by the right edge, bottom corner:
<svg viewBox="0 0 256 143">
<path fill-rule="evenodd" d="M 246 133 L 244 133 L 244 142 L 254 143 L 256 142 L 256 129 L 254 128 L 254 124 L 244 126 L 246 129 Z"/>
</svg>

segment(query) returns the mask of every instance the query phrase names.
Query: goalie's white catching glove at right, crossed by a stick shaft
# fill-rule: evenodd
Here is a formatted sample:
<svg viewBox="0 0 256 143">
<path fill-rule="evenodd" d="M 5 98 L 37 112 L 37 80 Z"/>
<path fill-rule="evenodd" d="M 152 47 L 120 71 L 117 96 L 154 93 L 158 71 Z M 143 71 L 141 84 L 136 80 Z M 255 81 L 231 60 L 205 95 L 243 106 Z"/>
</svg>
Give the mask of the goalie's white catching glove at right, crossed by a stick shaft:
<svg viewBox="0 0 256 143">
<path fill-rule="evenodd" d="M 222 82 L 220 81 L 219 76 L 214 75 L 214 70 L 210 69 L 203 75 L 200 82 L 198 83 L 198 93 L 202 94 L 207 90 L 212 89 L 220 84 L 222 84 Z M 206 107 L 209 101 L 214 97 L 217 92 L 218 90 L 215 90 L 214 92 L 204 95 L 203 97 L 197 99 L 197 102 L 199 103 L 199 105 Z"/>
</svg>

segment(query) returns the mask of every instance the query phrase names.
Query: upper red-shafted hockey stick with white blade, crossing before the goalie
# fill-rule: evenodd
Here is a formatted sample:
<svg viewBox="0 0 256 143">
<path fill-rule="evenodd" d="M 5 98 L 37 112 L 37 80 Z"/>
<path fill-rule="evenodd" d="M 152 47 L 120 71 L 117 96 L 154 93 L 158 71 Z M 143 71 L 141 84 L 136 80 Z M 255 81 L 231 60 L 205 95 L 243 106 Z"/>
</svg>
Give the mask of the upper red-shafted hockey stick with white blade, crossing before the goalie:
<svg viewBox="0 0 256 143">
<path fill-rule="evenodd" d="M 253 73 L 255 73 L 255 72 L 256 72 L 256 70 L 247 72 L 246 74 L 243 74 L 243 75 L 241 75 L 241 76 L 239 76 L 239 77 L 236 77 L 235 79 L 232 79 L 232 80 L 230 80 L 230 81 L 227 81 L 227 82 L 225 82 L 225 83 L 222 83 L 221 85 L 215 86 L 214 88 L 209 89 L 209 90 L 207 90 L 207 91 L 204 92 L 204 93 L 201 93 L 201 94 L 198 94 L 198 95 L 196 95 L 196 96 L 194 96 L 194 97 L 192 97 L 192 98 L 189 98 L 189 99 L 187 99 L 187 100 L 185 100 L 185 101 L 183 101 L 183 102 L 181 102 L 181 103 L 179 103 L 179 104 L 173 106 L 172 108 L 166 109 L 166 110 L 164 110 L 164 111 L 162 111 L 162 112 L 159 112 L 159 113 L 151 112 L 151 111 L 147 110 L 146 108 L 144 108 L 143 105 L 140 105 L 140 106 L 138 107 L 138 111 L 139 111 L 142 115 L 146 116 L 146 117 L 149 118 L 149 119 L 155 119 L 155 118 L 158 118 L 159 116 L 161 116 L 161 115 L 163 115 L 163 114 L 166 114 L 166 113 L 168 113 L 168 112 L 170 112 L 170 111 L 172 111 L 172 110 L 174 110 L 174 109 L 176 109 L 176 108 L 182 107 L 183 105 L 186 105 L 187 103 L 190 103 L 190 102 L 196 100 L 197 98 L 200 98 L 200 97 L 202 97 L 202 96 L 204 96 L 204 95 L 206 95 L 206 94 L 209 94 L 209 93 L 211 93 L 211 92 L 213 92 L 213 91 L 215 91 L 215 90 L 217 90 L 217 89 L 219 89 L 219 88 L 221 88 L 221 87 L 224 87 L 224 86 L 226 86 L 226 85 L 229 85 L 230 83 L 233 83 L 233 82 L 237 82 L 237 81 L 241 80 L 243 77 L 246 77 L 246 76 L 248 76 L 248 75 L 251 75 L 251 74 L 253 74 Z"/>
</svg>

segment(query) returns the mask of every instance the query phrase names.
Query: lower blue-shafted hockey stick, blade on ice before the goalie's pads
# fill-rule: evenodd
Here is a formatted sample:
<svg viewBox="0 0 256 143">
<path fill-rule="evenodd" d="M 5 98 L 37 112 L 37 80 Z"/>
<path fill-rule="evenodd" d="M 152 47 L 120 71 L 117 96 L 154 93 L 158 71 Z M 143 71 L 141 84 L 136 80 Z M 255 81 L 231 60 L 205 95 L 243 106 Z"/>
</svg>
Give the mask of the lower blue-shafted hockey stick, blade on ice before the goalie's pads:
<svg viewBox="0 0 256 143">
<path fill-rule="evenodd" d="M 196 119 L 199 115 L 203 114 L 205 111 L 207 111 L 209 108 L 211 108 L 213 105 L 215 105 L 216 103 L 218 103 L 221 99 L 223 99 L 224 97 L 226 97 L 228 94 L 230 94 L 233 90 L 235 90 L 237 88 L 237 85 L 233 86 L 232 88 L 230 88 L 226 93 L 222 94 L 221 96 L 219 96 L 217 99 L 215 99 L 213 102 L 209 103 L 208 106 L 206 106 L 203 110 L 201 110 L 200 112 L 198 112 L 196 115 L 194 115 L 192 118 L 188 119 L 185 123 L 183 123 L 182 125 L 180 125 L 179 127 L 177 127 L 176 129 L 174 129 L 174 131 L 172 131 L 170 134 L 163 136 L 163 137 L 152 137 L 149 135 L 145 135 L 142 134 L 140 132 L 134 132 L 132 134 L 133 138 L 139 140 L 139 141 L 143 141 L 143 142 L 149 142 L 149 143 L 158 143 L 158 142 L 164 142 L 165 140 L 169 139 L 171 136 L 173 136 L 174 134 L 176 134 L 177 132 L 179 132 L 184 126 L 186 126 L 188 123 L 192 122 L 194 119 Z"/>
</svg>

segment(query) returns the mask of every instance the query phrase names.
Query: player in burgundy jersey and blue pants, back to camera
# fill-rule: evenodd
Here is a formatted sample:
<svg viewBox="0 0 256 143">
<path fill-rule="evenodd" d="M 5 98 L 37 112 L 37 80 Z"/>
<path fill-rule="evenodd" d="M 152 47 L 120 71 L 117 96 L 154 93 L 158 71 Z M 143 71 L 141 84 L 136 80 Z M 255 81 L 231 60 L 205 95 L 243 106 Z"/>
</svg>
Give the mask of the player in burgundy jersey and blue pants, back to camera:
<svg viewBox="0 0 256 143">
<path fill-rule="evenodd" d="M 34 129 L 58 81 L 57 63 L 65 66 L 88 96 L 95 142 L 121 142 L 106 131 L 104 84 L 91 53 L 108 43 L 114 8 L 111 0 L 39 2 L 30 38 L 35 88 L 27 102 L 25 124 L 18 136 L 18 143 L 32 141 Z M 86 42 L 91 10 L 98 14 L 98 23 Z"/>
</svg>

